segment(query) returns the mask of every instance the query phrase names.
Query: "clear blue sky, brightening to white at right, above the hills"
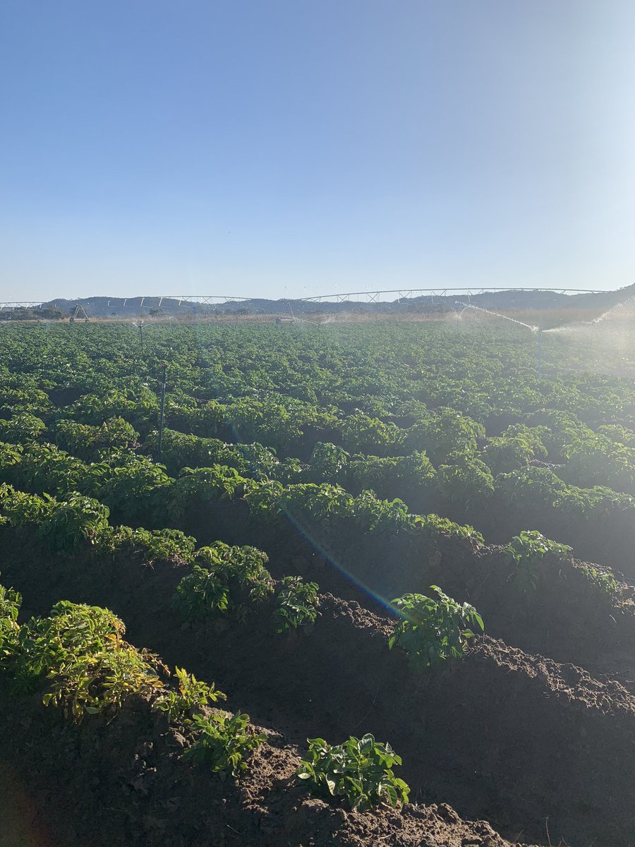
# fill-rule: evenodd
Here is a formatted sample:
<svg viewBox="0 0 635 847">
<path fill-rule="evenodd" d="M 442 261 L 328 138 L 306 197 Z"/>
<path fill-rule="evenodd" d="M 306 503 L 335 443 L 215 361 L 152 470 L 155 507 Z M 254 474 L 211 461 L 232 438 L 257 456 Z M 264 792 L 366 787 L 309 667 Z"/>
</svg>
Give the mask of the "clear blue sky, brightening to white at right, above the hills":
<svg viewBox="0 0 635 847">
<path fill-rule="evenodd" d="M 632 0 L 0 0 L 0 300 L 635 281 Z"/>
</svg>

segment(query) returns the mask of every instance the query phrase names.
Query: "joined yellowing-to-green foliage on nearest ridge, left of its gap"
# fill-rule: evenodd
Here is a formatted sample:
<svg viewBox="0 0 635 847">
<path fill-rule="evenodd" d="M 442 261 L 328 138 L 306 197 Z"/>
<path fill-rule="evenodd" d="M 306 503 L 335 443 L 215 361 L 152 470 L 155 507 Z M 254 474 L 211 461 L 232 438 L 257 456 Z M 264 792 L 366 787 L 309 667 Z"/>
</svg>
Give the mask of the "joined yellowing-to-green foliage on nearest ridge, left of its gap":
<svg viewBox="0 0 635 847">
<path fill-rule="evenodd" d="M 13 678 L 15 695 L 41 692 L 45 706 L 63 708 L 75 722 L 101 712 L 112 718 L 130 698 L 143 697 L 187 734 L 184 761 L 233 777 L 266 740 L 248 715 L 210 710 L 225 699 L 213 684 L 177 667 L 174 689 L 168 667 L 124 641 L 124 623 L 108 609 L 60 601 L 50 616 L 19 626 L 20 602 L 0 585 L 0 673 Z"/>
</svg>

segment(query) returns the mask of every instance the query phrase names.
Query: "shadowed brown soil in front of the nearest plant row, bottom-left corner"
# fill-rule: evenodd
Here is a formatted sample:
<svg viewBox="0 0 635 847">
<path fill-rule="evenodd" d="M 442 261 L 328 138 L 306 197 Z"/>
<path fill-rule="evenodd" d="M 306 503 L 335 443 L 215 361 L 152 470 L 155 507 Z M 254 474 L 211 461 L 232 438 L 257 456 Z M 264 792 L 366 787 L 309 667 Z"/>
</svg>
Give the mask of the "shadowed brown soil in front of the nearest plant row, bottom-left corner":
<svg viewBox="0 0 635 847">
<path fill-rule="evenodd" d="M 182 737 L 143 700 L 79 726 L 36 698 L 0 689 L 0 704 L 3 756 L 28 774 L 30 803 L 14 811 L 36 803 L 54 838 L 24 818 L 15 833 L 30 840 L 10 847 L 513 847 L 445 804 L 360 814 L 313 799 L 294 778 L 298 751 L 270 731 L 235 783 L 180 761 Z"/>
</svg>

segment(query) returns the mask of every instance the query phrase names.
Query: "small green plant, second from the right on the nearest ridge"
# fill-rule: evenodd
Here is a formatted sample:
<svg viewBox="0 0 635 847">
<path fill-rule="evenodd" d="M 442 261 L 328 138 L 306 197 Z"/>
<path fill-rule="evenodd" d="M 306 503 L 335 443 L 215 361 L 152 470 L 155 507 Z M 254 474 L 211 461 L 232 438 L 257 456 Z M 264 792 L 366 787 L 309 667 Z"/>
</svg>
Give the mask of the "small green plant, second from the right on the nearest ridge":
<svg viewBox="0 0 635 847">
<path fill-rule="evenodd" d="M 195 765 L 209 767 L 213 772 L 237 777 L 247 768 L 245 761 L 253 750 L 267 739 L 264 733 L 254 733 L 249 715 L 236 712 L 212 711 L 205 717 L 195 714 L 192 729 L 196 740 L 185 750 L 183 758 Z"/>
</svg>

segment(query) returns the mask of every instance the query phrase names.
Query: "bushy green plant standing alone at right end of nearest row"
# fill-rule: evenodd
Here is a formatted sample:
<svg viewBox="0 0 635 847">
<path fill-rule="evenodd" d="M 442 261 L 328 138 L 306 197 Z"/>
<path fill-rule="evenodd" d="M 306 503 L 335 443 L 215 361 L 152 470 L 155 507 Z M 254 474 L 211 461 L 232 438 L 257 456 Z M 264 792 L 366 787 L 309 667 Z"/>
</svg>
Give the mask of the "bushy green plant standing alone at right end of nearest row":
<svg viewBox="0 0 635 847">
<path fill-rule="evenodd" d="M 351 736 L 337 746 L 324 739 L 307 741 L 308 756 L 296 773 L 317 794 L 343 797 L 359 811 L 379 803 L 395 807 L 407 802 L 410 789 L 392 770 L 401 759 L 389 744 L 379 743 L 371 734 L 362 739 Z"/>
</svg>

